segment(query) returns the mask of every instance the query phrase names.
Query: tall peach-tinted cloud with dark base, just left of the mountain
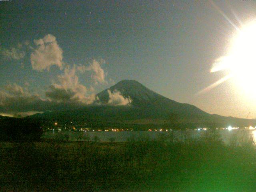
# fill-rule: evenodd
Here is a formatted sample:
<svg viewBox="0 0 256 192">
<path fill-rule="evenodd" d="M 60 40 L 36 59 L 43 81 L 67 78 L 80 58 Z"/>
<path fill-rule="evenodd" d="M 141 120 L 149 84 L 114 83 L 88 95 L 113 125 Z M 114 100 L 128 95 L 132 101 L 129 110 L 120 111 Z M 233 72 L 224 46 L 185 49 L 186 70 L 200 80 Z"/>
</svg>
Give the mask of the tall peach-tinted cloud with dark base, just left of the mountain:
<svg viewBox="0 0 256 192">
<path fill-rule="evenodd" d="M 57 102 L 92 104 L 95 100 L 95 94 L 88 94 L 86 86 L 80 84 L 75 65 L 64 69 L 64 74 L 58 76 L 58 83 L 50 86 L 46 96 Z"/>
</svg>

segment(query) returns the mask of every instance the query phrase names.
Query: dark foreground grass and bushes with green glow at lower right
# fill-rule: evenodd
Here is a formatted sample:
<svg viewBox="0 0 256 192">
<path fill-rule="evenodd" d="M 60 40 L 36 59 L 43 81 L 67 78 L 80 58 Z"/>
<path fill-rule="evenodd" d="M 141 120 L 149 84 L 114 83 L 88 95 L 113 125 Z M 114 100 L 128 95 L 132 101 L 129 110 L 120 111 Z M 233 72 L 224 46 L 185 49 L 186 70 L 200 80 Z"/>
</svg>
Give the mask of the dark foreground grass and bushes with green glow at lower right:
<svg viewBox="0 0 256 192">
<path fill-rule="evenodd" d="M 251 192 L 252 140 L 225 145 L 215 132 L 125 143 L 0 142 L 1 191 Z"/>
</svg>

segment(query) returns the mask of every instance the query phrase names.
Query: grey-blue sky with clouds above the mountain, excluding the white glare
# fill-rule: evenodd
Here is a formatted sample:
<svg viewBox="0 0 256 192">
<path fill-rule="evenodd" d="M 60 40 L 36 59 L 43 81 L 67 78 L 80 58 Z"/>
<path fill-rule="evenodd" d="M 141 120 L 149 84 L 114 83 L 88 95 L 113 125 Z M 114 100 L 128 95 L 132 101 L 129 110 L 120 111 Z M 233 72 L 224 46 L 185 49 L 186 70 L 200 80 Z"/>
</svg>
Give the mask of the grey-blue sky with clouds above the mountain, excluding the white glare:
<svg viewBox="0 0 256 192">
<path fill-rule="evenodd" d="M 240 0 L 1 1 L 0 114 L 90 104 L 131 79 L 210 114 L 256 118 L 255 95 L 232 78 L 201 92 L 228 73 L 210 70 L 255 10 Z"/>
</svg>

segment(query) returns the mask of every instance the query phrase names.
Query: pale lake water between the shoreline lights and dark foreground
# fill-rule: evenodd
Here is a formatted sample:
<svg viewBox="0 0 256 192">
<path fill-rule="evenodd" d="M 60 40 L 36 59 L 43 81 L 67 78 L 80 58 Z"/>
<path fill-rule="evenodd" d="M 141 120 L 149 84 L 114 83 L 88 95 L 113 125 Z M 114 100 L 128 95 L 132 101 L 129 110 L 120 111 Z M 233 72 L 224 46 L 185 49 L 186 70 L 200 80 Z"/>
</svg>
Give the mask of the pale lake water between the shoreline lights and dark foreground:
<svg viewBox="0 0 256 192">
<path fill-rule="evenodd" d="M 232 140 L 247 140 L 249 138 L 253 139 L 256 142 L 256 130 L 216 130 L 220 137 L 225 143 L 230 143 Z M 185 140 L 186 138 L 198 138 L 207 134 L 208 130 L 188 130 L 188 131 L 174 131 L 174 138 L 176 140 Z M 113 138 L 115 142 L 126 142 L 127 140 L 138 140 L 140 138 L 147 138 L 150 140 L 156 140 L 160 137 L 164 137 L 169 132 L 166 131 L 121 131 L 121 132 L 105 132 L 105 131 L 94 131 L 94 132 L 56 132 L 56 131 L 46 131 L 44 132 L 42 138 L 64 138 L 64 135 L 67 134 L 70 141 L 76 141 L 78 136 L 83 136 L 85 138 L 90 138 L 90 141 L 94 140 L 94 137 L 97 136 L 102 142 L 110 142 L 110 138 Z"/>
</svg>

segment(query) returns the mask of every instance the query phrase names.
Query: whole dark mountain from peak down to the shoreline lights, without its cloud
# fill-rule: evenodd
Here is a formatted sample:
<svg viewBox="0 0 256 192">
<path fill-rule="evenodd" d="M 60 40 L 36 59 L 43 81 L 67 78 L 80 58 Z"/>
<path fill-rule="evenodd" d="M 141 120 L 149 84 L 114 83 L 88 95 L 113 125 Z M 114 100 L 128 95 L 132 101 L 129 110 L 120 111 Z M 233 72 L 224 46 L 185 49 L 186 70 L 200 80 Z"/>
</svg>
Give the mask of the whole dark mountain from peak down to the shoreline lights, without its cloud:
<svg viewBox="0 0 256 192">
<path fill-rule="evenodd" d="M 110 94 L 119 92 L 118 97 L 130 98 L 126 106 L 112 106 Z M 156 128 L 172 126 L 180 128 L 227 127 L 256 125 L 256 120 L 224 117 L 208 114 L 196 106 L 170 100 L 135 80 L 122 80 L 97 94 L 95 105 L 74 110 L 62 110 L 35 114 L 30 118 L 57 120 L 58 122 L 89 122 L 96 127 L 149 126 Z M 170 126 L 169 126 L 170 127 Z"/>
</svg>

